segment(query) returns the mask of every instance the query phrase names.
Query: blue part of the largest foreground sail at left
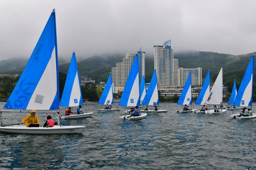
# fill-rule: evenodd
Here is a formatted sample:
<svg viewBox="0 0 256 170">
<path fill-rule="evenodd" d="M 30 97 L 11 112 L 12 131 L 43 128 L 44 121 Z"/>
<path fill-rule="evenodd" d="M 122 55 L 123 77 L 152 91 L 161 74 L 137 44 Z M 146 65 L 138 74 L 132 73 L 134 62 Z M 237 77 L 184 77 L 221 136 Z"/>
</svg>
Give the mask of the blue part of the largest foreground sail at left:
<svg viewBox="0 0 256 170">
<path fill-rule="evenodd" d="M 50 15 L 46 26 L 28 60 L 28 63 L 20 76 L 12 94 L 4 105 L 6 109 L 26 109 L 28 103 L 40 81 L 48 62 L 52 57 L 52 51 L 55 47 L 55 57 L 57 67 L 57 92 L 52 101 L 51 109 L 59 109 L 59 87 L 58 87 L 58 50 L 56 40 L 56 20 L 55 11 Z M 47 85 L 47 83 L 46 83 Z M 40 96 L 40 102 L 43 101 L 44 96 Z M 36 102 L 36 101 L 32 101 Z M 39 103 L 40 103 L 39 102 Z M 51 102 L 51 101 L 50 101 Z M 49 109 L 45 108 L 45 109 Z M 34 108 L 36 109 L 36 108 Z"/>
</svg>

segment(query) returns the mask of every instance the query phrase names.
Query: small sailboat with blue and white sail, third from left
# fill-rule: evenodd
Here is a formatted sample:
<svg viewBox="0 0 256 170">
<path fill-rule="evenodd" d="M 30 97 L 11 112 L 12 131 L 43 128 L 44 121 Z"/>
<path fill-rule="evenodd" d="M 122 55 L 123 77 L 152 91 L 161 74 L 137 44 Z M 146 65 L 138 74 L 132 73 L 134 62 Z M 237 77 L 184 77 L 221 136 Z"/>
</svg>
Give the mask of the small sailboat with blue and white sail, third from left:
<svg viewBox="0 0 256 170">
<path fill-rule="evenodd" d="M 113 88 L 112 88 L 112 78 L 111 73 L 108 76 L 108 80 L 106 86 L 103 90 L 103 93 L 98 102 L 99 105 L 114 105 L 114 97 L 113 97 Z M 120 109 L 115 109 L 114 106 L 112 109 L 98 109 L 98 111 L 120 111 Z"/>
</svg>

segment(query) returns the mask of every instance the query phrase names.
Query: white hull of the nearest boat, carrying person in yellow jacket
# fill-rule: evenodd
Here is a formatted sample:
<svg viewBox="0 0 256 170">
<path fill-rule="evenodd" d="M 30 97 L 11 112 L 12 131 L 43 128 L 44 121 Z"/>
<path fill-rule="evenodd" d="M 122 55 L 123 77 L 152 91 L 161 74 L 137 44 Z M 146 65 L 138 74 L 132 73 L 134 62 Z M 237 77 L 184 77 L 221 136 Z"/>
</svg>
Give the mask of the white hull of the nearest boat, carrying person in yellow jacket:
<svg viewBox="0 0 256 170">
<path fill-rule="evenodd" d="M 65 134 L 65 133 L 81 133 L 84 126 L 60 126 L 54 127 L 26 127 L 13 125 L 9 127 L 0 127 L 0 132 L 5 133 L 22 133 L 22 134 Z"/>
</svg>

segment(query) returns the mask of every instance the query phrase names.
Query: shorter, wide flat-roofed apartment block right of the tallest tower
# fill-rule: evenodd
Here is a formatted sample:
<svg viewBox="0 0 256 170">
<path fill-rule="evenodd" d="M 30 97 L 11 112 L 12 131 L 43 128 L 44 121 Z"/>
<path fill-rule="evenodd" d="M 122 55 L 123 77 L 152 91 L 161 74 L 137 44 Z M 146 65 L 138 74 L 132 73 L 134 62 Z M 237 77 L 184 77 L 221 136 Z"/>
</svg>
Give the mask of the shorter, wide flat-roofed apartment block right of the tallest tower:
<svg viewBox="0 0 256 170">
<path fill-rule="evenodd" d="M 179 85 L 184 86 L 188 74 L 191 73 L 191 85 L 202 85 L 202 68 L 198 67 L 197 69 L 184 69 L 179 68 L 178 77 L 179 77 Z"/>
</svg>

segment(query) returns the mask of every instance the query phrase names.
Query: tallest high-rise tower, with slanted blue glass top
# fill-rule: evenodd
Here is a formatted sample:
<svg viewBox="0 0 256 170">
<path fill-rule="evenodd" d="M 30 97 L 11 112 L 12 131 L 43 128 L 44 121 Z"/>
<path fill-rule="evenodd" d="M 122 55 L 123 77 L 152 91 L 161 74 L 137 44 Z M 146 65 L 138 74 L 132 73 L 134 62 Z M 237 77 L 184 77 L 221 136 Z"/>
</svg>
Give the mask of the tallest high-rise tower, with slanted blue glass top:
<svg viewBox="0 0 256 170">
<path fill-rule="evenodd" d="M 174 59 L 171 40 L 163 45 L 154 45 L 154 69 L 159 86 L 178 85 L 178 59 Z"/>
</svg>

